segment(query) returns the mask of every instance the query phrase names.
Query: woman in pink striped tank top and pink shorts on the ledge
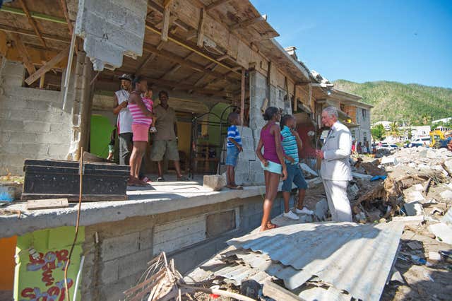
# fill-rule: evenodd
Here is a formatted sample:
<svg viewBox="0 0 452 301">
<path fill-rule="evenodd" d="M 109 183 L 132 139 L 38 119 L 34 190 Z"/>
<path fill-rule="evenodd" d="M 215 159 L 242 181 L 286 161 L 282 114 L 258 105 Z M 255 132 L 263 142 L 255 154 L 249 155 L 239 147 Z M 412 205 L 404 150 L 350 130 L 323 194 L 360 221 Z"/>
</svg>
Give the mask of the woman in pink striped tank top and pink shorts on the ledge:
<svg viewBox="0 0 452 301">
<path fill-rule="evenodd" d="M 133 151 L 130 156 L 130 178 L 127 184 L 131 186 L 145 186 L 147 183 L 138 177 L 141 160 L 148 144 L 149 126 L 153 121 L 152 90 L 148 91 L 148 81 L 143 76 L 137 76 L 133 81 L 133 91 L 129 96 L 129 111 L 132 114 Z M 142 98 L 141 94 L 147 93 Z"/>
</svg>

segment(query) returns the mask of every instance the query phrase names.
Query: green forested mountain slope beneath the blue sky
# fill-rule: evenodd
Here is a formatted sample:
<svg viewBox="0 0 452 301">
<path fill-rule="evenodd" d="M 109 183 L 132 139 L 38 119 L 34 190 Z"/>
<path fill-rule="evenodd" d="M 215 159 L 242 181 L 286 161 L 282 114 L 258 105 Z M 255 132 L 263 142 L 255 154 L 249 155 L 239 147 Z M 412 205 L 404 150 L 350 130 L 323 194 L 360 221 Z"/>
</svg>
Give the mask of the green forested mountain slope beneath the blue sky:
<svg viewBox="0 0 452 301">
<path fill-rule="evenodd" d="M 334 82 L 334 87 L 360 95 L 363 102 L 374 105 L 371 122 L 404 121 L 417 125 L 452 117 L 451 88 L 393 81 L 354 83 L 341 79 Z"/>
</svg>

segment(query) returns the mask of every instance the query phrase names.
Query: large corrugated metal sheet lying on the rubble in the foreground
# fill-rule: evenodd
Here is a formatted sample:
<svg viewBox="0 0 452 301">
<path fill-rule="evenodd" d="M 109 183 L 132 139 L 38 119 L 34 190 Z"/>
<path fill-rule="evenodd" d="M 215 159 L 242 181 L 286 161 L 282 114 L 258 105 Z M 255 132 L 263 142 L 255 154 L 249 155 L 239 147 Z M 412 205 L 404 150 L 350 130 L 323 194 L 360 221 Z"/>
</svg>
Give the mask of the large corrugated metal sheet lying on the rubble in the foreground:
<svg viewBox="0 0 452 301">
<path fill-rule="evenodd" d="M 355 298 L 379 300 L 402 231 L 403 223 L 308 223 L 245 235 L 228 244 L 261 252 L 272 261 L 303 271 L 284 271 L 285 283 L 295 285 L 302 278 L 319 276 Z M 266 272 L 275 275 L 273 268 Z"/>
</svg>

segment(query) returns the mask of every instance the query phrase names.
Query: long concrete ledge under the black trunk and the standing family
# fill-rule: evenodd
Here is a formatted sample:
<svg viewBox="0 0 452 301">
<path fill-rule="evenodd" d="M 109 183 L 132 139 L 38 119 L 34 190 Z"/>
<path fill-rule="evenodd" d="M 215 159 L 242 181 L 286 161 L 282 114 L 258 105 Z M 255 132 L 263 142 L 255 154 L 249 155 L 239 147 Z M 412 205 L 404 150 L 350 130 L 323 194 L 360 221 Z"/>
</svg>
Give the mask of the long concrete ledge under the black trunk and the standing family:
<svg viewBox="0 0 452 301">
<path fill-rule="evenodd" d="M 318 179 L 311 179 L 308 183 L 309 187 L 312 184 L 315 186 Z M 280 187 L 281 185 L 282 182 Z M 136 187 L 136 190 L 127 192 L 129 195 L 127 201 L 82 203 L 80 225 L 114 222 L 136 216 L 153 216 L 233 199 L 263 197 L 266 191 L 265 186 L 244 187 L 244 190 L 209 191 L 197 182 L 165 182 L 165 184 L 155 182 L 151 189 L 153 190 Z M 20 218 L 17 214 L 0 216 L 0 238 L 76 224 L 77 203 L 71 203 L 69 208 L 38 211 L 27 211 L 25 204 L 25 202 L 20 202 L 4 207 L 8 211 L 20 210 L 22 214 Z"/>
</svg>

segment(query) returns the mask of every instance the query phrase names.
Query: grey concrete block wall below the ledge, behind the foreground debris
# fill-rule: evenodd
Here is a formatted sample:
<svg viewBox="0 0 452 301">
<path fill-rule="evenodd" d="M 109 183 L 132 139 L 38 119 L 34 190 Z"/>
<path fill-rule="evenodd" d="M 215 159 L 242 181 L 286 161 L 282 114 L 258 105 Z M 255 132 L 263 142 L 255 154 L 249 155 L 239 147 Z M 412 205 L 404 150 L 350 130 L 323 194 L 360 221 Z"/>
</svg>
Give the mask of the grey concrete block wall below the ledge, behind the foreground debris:
<svg viewBox="0 0 452 301">
<path fill-rule="evenodd" d="M 264 189 L 262 194 L 265 194 Z M 174 259 L 179 272 L 190 271 L 227 247 L 226 241 L 230 238 L 244 235 L 261 225 L 262 204 L 263 195 L 86 226 L 82 299 L 123 299 L 122 292 L 136 285 L 148 261 L 162 249 L 169 259 Z M 230 210 L 235 210 L 236 229 L 206 239 L 203 218 Z M 278 195 L 272 216 L 282 212 L 283 199 Z M 186 241 L 183 242 L 182 237 L 186 237 Z"/>
</svg>

